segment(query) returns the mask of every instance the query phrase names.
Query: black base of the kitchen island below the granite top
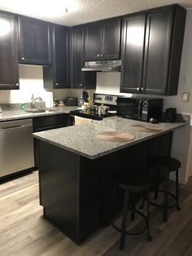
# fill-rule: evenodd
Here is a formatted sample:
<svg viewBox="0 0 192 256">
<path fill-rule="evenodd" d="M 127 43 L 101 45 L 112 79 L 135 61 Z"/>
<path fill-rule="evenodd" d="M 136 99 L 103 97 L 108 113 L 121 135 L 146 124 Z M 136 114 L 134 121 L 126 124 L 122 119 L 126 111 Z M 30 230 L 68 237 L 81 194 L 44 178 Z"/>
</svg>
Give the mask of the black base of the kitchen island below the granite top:
<svg viewBox="0 0 192 256">
<path fill-rule="evenodd" d="M 146 169 L 148 157 L 169 155 L 172 132 L 90 160 L 39 140 L 40 204 L 44 217 L 77 245 L 108 223 L 111 191 L 122 169 Z M 116 199 L 120 210 L 122 198 Z"/>
</svg>

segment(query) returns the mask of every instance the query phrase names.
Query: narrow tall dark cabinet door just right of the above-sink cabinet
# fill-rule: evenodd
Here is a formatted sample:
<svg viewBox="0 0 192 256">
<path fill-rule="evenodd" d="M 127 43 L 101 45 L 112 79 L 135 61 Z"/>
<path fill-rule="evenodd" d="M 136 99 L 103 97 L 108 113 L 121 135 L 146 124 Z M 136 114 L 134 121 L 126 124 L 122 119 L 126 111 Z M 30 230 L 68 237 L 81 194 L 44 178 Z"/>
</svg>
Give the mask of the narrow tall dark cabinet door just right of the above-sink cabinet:
<svg viewBox="0 0 192 256">
<path fill-rule="evenodd" d="M 55 25 L 54 31 L 54 67 L 55 67 L 55 89 L 68 88 L 69 81 L 69 30 L 67 27 Z"/>
</svg>

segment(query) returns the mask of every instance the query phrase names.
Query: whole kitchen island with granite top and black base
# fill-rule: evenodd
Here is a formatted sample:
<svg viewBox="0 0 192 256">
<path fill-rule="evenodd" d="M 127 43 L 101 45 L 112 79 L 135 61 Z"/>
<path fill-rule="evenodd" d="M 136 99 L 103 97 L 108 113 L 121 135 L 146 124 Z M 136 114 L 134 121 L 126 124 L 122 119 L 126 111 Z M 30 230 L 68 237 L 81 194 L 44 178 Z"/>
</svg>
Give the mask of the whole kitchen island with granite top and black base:
<svg viewBox="0 0 192 256">
<path fill-rule="evenodd" d="M 153 125 L 161 129 L 159 132 L 131 129 L 141 124 L 144 123 L 108 117 L 86 125 L 33 134 L 38 139 L 40 204 L 44 217 L 76 244 L 107 223 L 116 173 L 131 167 L 146 169 L 152 154 L 169 155 L 172 131 L 186 125 Z M 103 131 L 126 132 L 134 139 L 125 142 L 97 139 L 96 135 Z M 119 208 L 117 200 L 116 209 Z"/>
</svg>

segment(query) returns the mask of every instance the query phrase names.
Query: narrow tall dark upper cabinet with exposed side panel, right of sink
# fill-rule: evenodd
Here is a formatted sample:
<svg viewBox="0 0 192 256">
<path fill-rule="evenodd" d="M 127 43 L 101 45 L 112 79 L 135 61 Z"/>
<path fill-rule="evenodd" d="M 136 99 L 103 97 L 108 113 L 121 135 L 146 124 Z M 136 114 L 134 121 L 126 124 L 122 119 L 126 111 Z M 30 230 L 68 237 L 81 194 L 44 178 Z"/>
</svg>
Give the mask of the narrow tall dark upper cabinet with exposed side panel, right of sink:
<svg viewBox="0 0 192 256">
<path fill-rule="evenodd" d="M 62 25 L 53 25 L 52 66 L 43 67 L 45 88 L 63 89 L 70 87 L 69 79 L 69 29 Z"/>
</svg>

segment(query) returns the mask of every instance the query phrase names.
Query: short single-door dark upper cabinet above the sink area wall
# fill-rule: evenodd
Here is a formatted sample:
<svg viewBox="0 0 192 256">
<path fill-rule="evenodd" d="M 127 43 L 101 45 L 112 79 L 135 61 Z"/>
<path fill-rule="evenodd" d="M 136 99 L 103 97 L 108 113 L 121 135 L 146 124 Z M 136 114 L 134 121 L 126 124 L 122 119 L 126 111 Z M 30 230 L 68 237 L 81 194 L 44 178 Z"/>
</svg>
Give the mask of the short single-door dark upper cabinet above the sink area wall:
<svg viewBox="0 0 192 256">
<path fill-rule="evenodd" d="M 19 16 L 20 64 L 51 64 L 51 24 Z"/>
</svg>

